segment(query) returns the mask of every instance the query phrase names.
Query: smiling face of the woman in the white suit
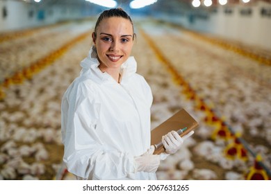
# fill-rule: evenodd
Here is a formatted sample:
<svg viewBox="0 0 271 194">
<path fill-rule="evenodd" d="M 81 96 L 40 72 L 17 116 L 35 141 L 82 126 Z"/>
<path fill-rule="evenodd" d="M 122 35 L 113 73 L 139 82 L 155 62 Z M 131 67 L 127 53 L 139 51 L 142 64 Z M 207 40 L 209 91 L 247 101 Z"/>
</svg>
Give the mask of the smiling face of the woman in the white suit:
<svg viewBox="0 0 271 194">
<path fill-rule="evenodd" d="M 92 34 L 97 48 L 101 71 L 120 69 L 129 58 L 133 47 L 133 26 L 129 19 L 109 17 L 97 27 L 97 37 Z"/>
</svg>

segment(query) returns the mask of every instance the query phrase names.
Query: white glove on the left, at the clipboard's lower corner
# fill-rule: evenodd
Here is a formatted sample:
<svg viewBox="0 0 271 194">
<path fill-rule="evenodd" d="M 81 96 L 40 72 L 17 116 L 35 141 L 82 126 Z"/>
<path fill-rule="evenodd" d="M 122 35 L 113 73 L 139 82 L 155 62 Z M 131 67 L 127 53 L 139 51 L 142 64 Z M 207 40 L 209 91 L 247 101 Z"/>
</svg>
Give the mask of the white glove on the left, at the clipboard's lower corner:
<svg viewBox="0 0 271 194">
<path fill-rule="evenodd" d="M 160 156 L 153 155 L 154 153 L 154 145 L 151 145 L 151 148 L 147 150 L 140 157 L 134 157 L 136 164 L 136 171 L 144 171 L 147 173 L 155 173 L 159 164 L 160 164 Z"/>
</svg>

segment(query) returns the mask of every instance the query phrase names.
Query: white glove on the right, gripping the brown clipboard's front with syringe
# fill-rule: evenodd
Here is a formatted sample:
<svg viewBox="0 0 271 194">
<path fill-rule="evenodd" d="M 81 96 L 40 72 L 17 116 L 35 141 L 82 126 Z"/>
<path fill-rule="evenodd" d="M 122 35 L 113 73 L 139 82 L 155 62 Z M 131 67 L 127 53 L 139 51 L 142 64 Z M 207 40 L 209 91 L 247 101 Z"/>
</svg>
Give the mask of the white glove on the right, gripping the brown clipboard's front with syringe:
<svg viewBox="0 0 271 194">
<path fill-rule="evenodd" d="M 165 147 L 165 152 L 170 155 L 174 154 L 181 148 L 181 145 L 183 145 L 183 141 L 185 139 L 188 139 L 188 137 L 192 134 L 194 134 L 194 131 L 189 132 L 183 137 L 179 136 L 179 134 L 175 131 L 167 133 L 165 136 L 162 137 L 162 143 Z"/>
</svg>

